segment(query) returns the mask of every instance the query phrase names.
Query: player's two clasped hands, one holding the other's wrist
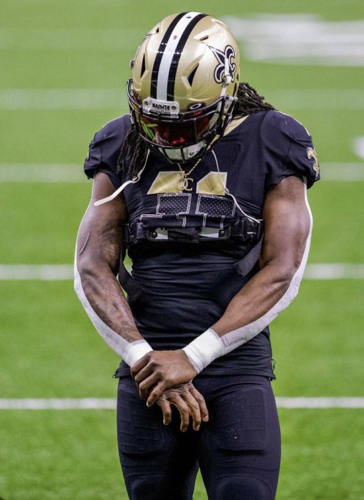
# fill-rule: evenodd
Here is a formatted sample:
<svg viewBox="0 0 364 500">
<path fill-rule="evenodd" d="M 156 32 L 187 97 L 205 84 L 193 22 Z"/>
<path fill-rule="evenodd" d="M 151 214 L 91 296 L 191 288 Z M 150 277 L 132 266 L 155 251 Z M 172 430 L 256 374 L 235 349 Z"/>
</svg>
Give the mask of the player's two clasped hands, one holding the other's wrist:
<svg viewBox="0 0 364 500">
<path fill-rule="evenodd" d="M 147 406 L 157 403 L 161 407 L 165 425 L 171 422 L 172 406 L 180 412 L 182 432 L 187 430 L 189 416 L 194 430 L 208 420 L 205 400 L 191 382 L 197 371 L 182 349 L 152 350 L 130 371 Z"/>
</svg>

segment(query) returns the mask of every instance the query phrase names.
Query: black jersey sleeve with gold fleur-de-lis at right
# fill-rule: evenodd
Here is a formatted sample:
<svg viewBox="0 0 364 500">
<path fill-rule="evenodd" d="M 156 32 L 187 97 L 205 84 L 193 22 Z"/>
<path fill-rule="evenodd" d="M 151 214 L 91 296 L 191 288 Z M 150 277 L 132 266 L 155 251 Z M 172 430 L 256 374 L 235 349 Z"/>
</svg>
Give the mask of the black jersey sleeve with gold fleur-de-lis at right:
<svg viewBox="0 0 364 500">
<path fill-rule="evenodd" d="M 269 111 L 263 126 L 267 189 L 291 175 L 305 177 L 307 187 L 320 179 L 312 137 L 301 123 L 288 114 Z"/>
</svg>

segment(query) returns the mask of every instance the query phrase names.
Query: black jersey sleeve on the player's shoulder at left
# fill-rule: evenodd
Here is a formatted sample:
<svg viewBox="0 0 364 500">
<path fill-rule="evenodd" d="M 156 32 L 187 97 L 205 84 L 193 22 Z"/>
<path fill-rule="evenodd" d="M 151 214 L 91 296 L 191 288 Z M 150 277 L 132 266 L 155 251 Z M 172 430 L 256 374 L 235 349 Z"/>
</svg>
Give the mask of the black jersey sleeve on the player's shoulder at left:
<svg viewBox="0 0 364 500">
<path fill-rule="evenodd" d="M 84 162 L 88 178 L 94 178 L 96 172 L 104 172 L 116 189 L 121 186 L 123 178 L 118 170 L 118 159 L 129 126 L 129 115 L 124 115 L 110 121 L 95 134 Z"/>
</svg>

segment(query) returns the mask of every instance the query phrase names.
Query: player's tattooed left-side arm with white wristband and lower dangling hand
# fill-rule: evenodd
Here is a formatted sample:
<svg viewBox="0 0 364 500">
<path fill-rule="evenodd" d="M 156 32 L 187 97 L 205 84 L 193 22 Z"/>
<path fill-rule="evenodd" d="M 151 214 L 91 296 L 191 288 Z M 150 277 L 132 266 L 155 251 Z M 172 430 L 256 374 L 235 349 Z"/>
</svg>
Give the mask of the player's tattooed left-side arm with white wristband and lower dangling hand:
<svg viewBox="0 0 364 500">
<path fill-rule="evenodd" d="M 152 348 L 138 331 L 129 304 L 116 279 L 122 250 L 122 230 L 126 222 L 125 203 L 120 197 L 94 206 L 109 196 L 114 187 L 104 173 L 95 176 L 92 197 L 82 219 L 75 252 L 75 291 L 91 321 L 110 347 L 131 366 Z M 201 420 L 208 420 L 202 395 L 191 383 L 170 388 L 158 399 L 163 421 L 171 421 L 171 405 L 181 415 L 181 430 L 193 419 L 198 430 Z"/>
</svg>

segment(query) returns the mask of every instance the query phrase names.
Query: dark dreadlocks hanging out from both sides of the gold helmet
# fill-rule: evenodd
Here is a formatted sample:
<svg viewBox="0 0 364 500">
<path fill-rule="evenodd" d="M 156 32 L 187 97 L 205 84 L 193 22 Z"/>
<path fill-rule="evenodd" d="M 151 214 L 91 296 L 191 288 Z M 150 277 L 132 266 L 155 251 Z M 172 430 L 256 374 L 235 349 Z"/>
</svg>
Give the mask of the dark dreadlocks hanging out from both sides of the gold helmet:
<svg viewBox="0 0 364 500">
<path fill-rule="evenodd" d="M 264 101 L 264 96 L 249 85 L 249 83 L 239 83 L 237 91 L 237 101 L 235 102 L 232 116 L 247 116 L 259 111 L 269 111 L 275 109 L 272 104 Z M 148 152 L 148 147 L 142 137 L 138 134 L 135 127 L 132 126 L 125 136 L 121 147 L 118 170 L 127 169 L 132 176 L 137 175 L 138 171 L 144 165 Z"/>
</svg>

